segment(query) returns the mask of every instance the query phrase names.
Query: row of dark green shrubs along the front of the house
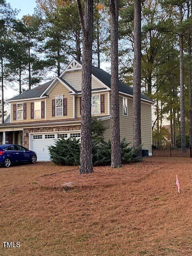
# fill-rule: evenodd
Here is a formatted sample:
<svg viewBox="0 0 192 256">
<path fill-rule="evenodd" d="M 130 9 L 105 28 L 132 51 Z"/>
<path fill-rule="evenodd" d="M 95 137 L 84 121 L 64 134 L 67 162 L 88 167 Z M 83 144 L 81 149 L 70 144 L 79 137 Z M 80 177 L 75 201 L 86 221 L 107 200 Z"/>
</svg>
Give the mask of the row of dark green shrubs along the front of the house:
<svg viewBox="0 0 192 256">
<path fill-rule="evenodd" d="M 106 127 L 101 120 L 92 118 L 92 161 L 94 166 L 111 164 L 111 141 L 104 141 Z M 80 140 L 75 138 L 60 138 L 54 146 L 50 146 L 50 159 L 58 165 L 79 165 Z M 139 162 L 137 157 L 138 148 L 134 149 L 124 138 L 121 141 L 122 164 Z"/>
</svg>

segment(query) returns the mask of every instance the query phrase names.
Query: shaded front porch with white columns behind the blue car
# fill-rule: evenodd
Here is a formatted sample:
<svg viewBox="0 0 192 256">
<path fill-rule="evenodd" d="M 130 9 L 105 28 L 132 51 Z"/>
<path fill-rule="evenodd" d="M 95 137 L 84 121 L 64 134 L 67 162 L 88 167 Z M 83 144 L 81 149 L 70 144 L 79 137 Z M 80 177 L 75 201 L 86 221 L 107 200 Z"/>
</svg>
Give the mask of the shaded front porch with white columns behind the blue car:
<svg viewBox="0 0 192 256">
<path fill-rule="evenodd" d="M 23 131 L 0 132 L 0 144 L 23 145 Z"/>
</svg>

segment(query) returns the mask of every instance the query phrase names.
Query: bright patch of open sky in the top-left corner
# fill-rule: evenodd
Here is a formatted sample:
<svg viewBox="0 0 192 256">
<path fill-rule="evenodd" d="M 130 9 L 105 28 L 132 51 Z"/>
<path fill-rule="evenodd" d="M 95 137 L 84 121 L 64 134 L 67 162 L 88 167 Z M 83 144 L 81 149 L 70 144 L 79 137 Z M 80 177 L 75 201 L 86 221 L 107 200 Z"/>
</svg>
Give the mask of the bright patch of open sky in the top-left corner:
<svg viewBox="0 0 192 256">
<path fill-rule="evenodd" d="M 36 0 L 7 0 L 13 9 L 20 10 L 18 18 L 25 14 L 32 14 L 36 7 Z"/>
</svg>

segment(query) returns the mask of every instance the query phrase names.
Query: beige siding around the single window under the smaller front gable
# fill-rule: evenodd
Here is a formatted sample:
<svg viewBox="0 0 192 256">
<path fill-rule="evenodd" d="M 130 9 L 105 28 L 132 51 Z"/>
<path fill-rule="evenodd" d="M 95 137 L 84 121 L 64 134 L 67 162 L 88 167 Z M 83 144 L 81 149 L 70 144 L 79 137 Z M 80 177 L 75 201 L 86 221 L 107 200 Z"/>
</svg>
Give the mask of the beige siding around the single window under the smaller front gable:
<svg viewBox="0 0 192 256">
<path fill-rule="evenodd" d="M 49 98 L 46 100 L 46 120 L 57 120 L 61 118 L 73 118 L 73 97 L 68 95 L 69 90 L 60 82 L 49 93 Z M 67 116 L 52 116 L 52 100 L 56 95 L 63 95 L 67 98 Z"/>
</svg>

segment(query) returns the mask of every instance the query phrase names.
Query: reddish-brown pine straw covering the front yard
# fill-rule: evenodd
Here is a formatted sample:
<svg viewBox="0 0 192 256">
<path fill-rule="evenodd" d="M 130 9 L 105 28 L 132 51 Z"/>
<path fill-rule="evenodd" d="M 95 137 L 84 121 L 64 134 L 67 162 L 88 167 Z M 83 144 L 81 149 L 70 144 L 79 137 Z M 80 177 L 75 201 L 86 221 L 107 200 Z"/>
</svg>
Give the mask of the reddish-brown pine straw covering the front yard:
<svg viewBox="0 0 192 256">
<path fill-rule="evenodd" d="M 0 240 L 21 243 L 0 245 L 3 256 L 191 256 L 192 159 L 154 157 L 83 176 L 42 162 L 0 168 Z"/>
</svg>

